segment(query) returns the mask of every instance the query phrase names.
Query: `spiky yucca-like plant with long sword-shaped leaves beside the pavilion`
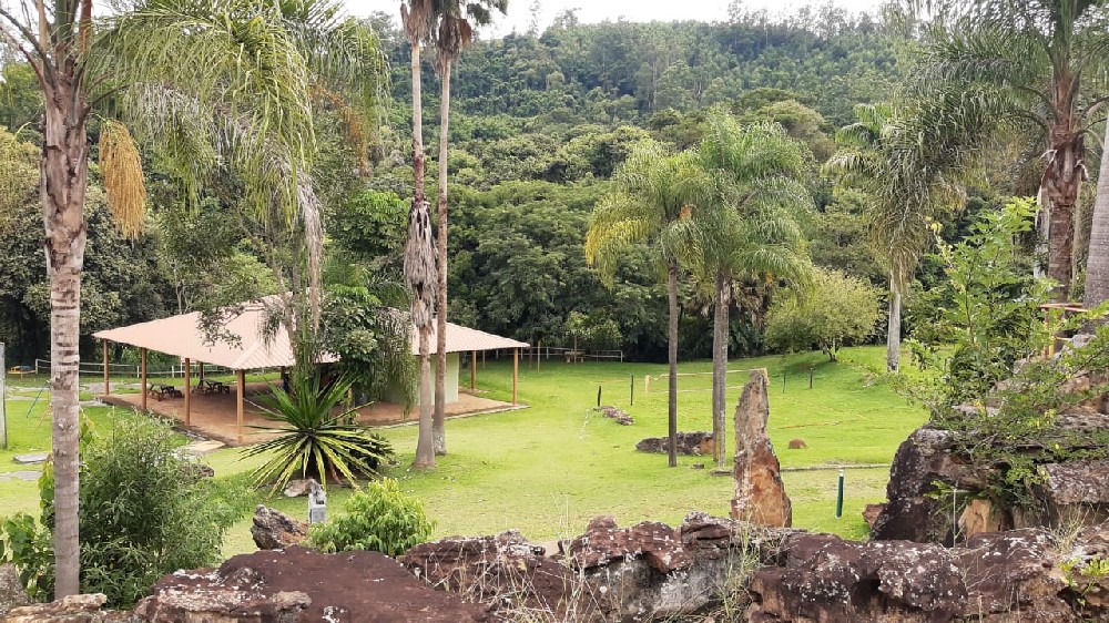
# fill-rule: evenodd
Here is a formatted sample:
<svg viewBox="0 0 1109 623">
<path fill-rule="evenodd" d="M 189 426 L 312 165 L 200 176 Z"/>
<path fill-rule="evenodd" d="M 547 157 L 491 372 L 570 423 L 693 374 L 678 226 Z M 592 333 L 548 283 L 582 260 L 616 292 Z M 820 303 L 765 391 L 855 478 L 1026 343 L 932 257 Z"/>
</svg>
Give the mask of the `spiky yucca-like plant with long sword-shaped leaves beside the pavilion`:
<svg viewBox="0 0 1109 623">
<path fill-rule="evenodd" d="M 294 375 L 291 391 L 273 387 L 258 399 L 266 418 L 281 426 L 256 426 L 276 437 L 252 446 L 245 457 L 269 456 L 254 471 L 256 484 L 285 486 L 294 476 L 316 478 L 324 487 L 328 478 L 354 483 L 377 476 L 377 468 L 393 455 L 389 442 L 354 421 L 357 407 L 340 405 L 352 378 L 340 377 L 321 386 L 319 375 Z"/>
</svg>

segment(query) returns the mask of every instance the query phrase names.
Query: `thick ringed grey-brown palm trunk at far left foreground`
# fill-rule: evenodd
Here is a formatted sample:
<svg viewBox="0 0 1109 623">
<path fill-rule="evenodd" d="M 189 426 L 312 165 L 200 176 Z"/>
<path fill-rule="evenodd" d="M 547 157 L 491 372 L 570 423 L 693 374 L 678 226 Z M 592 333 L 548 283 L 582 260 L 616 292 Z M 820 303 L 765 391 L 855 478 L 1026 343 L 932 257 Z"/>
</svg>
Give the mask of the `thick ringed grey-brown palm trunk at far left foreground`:
<svg viewBox="0 0 1109 623">
<path fill-rule="evenodd" d="M 50 412 L 54 466 L 54 596 L 80 592 L 80 407 L 81 270 L 87 225 L 85 103 L 79 86 L 58 72 L 44 86 L 45 134 L 41 182 L 43 243 L 50 279 Z"/>
</svg>

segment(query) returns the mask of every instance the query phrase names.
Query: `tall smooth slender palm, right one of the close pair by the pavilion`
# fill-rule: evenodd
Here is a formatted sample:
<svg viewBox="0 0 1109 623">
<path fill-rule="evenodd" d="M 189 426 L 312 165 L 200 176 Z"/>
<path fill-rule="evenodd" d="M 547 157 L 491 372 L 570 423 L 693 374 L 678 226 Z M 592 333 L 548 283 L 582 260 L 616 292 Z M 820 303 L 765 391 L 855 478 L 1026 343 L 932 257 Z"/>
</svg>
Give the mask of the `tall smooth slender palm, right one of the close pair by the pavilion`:
<svg viewBox="0 0 1109 623">
<path fill-rule="evenodd" d="M 441 0 L 440 0 L 441 1 Z M 437 8 L 438 28 L 435 47 L 438 50 L 438 69 L 442 76 L 439 100 L 439 223 L 438 223 L 438 269 L 439 313 L 436 326 L 435 367 L 435 413 L 431 418 L 431 438 L 436 455 L 447 453 L 446 375 L 447 375 L 447 145 L 450 120 L 450 65 L 462 49 L 474 40 L 474 24 L 486 25 L 492 21 L 489 9 L 503 14 L 508 11 L 508 0 L 479 0 L 461 2 L 441 1 Z"/>
</svg>

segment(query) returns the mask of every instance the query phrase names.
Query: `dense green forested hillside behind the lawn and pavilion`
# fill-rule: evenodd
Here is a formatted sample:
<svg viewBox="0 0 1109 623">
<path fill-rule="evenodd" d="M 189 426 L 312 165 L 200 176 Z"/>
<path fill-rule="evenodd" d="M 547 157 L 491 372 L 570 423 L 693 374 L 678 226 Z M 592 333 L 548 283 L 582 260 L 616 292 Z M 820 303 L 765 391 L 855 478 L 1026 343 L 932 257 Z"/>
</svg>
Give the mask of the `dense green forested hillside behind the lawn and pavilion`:
<svg viewBox="0 0 1109 623">
<path fill-rule="evenodd" d="M 405 210 L 398 197 L 407 201 L 411 193 L 409 48 L 396 19 L 372 21 L 389 62 L 391 98 L 376 109 L 380 123 L 373 132 L 367 125 L 373 135 L 366 136 L 366 157 L 344 142 L 338 122 L 321 131 L 327 166 L 317 166 L 316 176 L 333 282 L 358 278 L 336 268 L 349 257 L 370 265 L 379 282 L 399 282 Z M 696 144 L 711 106 L 741 121 L 776 121 L 804 142 L 811 154 L 806 185 L 816 205 L 803 218 L 810 254 L 818 264 L 881 283 L 861 203 L 849 193 L 833 198 L 818 171 L 834 150 L 835 129 L 854 121 L 854 105 L 893 94 L 904 64 L 898 32 L 879 19 L 833 8 L 776 20 L 745 13 L 715 24 L 582 24 L 563 13 L 538 35 L 476 42 L 456 63 L 452 80 L 450 318 L 549 345 L 569 341 L 572 325 L 588 347 L 663 359 L 661 267 L 645 247 L 630 247 L 606 287 L 586 263 L 584 235 L 609 178 L 633 146 L 644 139 L 675 150 Z M 0 124 L 34 143 L 41 113 L 29 69 L 9 62 L 3 72 Z M 430 61 L 423 76 L 425 139 L 434 162 L 439 78 Z M 147 163 L 152 211 L 138 242 L 121 242 L 110 228 L 90 229 L 85 303 L 94 313 L 82 321 L 84 335 L 275 287 L 266 275 L 264 241 L 244 236 L 220 216 L 233 203 L 221 193 L 234 192 L 235 182 L 199 203 L 185 202 L 192 208 L 182 213 L 176 208 L 184 195 L 159 164 Z M 27 182 L 20 186 L 23 201 L 0 219 L 11 243 L 0 263 L 0 340 L 16 361 L 43 356 L 49 331 L 43 259 L 34 243 L 40 234 L 30 227 L 39 208 L 34 182 Z M 109 251 L 121 244 L 125 252 Z M 147 276 L 136 278 L 136 270 Z M 739 286 L 732 353 L 757 353 L 775 284 Z M 705 357 L 711 295 L 686 279 L 682 300 L 682 356 Z"/>
</svg>

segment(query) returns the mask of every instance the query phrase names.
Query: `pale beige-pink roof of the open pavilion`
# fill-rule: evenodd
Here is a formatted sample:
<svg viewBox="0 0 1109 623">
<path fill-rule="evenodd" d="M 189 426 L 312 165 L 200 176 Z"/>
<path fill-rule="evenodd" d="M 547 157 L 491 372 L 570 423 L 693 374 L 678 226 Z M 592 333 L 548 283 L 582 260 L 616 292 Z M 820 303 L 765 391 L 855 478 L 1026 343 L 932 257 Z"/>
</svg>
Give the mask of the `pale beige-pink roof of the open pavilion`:
<svg viewBox="0 0 1109 623">
<path fill-rule="evenodd" d="M 183 359 L 223 366 L 232 370 L 292 366 L 294 364 L 293 348 L 285 328 L 278 328 L 272 340 L 263 340 L 260 335 L 266 319 L 263 304 L 246 303 L 242 307 L 242 314 L 234 315 L 221 327 L 222 333 L 237 337 L 235 345 L 226 340 L 215 344 L 206 343 L 204 334 L 200 329 L 201 315 L 197 312 L 106 329 L 98 331 L 93 336 L 174 355 Z M 435 346 L 436 337 L 433 326 L 431 353 L 435 353 Z M 528 344 L 522 341 L 447 323 L 447 353 L 527 347 Z M 415 330 L 411 333 L 411 348 L 413 355 L 419 353 L 419 336 Z M 336 359 L 334 355 L 323 357 L 324 362 Z"/>
</svg>

